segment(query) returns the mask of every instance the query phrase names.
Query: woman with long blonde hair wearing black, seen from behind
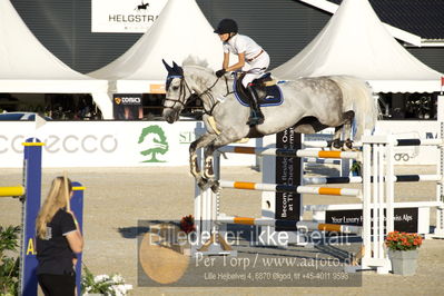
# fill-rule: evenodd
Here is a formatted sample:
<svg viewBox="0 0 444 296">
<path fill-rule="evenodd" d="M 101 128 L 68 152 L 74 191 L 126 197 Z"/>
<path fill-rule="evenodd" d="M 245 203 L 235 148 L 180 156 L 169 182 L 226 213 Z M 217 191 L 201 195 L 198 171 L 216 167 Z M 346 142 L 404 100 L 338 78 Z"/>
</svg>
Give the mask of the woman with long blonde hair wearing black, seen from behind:
<svg viewBox="0 0 444 296">
<path fill-rule="evenodd" d="M 83 238 L 73 213 L 67 211 L 66 184 L 69 198 L 72 185 L 69 179 L 52 180 L 48 197 L 36 221 L 37 276 L 45 295 L 75 295 L 77 253 L 83 248 Z"/>
</svg>

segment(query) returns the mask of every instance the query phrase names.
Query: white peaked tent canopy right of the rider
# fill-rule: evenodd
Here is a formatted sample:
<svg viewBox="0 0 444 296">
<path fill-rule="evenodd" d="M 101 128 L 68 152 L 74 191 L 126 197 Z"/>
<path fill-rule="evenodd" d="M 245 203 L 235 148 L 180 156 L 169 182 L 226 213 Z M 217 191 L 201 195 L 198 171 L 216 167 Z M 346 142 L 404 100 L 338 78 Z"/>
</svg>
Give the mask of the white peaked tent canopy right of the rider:
<svg viewBox="0 0 444 296">
<path fill-rule="evenodd" d="M 273 73 L 280 79 L 352 75 L 376 92 L 438 91 L 442 77 L 391 36 L 368 0 L 344 0 L 316 38 Z"/>
</svg>

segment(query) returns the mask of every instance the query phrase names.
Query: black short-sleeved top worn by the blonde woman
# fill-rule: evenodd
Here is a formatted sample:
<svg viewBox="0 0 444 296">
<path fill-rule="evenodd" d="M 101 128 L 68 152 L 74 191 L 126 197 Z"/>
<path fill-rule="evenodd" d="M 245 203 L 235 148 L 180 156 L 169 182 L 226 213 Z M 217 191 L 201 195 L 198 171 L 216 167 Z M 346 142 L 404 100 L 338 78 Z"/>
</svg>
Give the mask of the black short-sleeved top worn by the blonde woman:
<svg viewBox="0 0 444 296">
<path fill-rule="evenodd" d="M 59 209 L 47 225 L 47 237 L 37 236 L 37 274 L 63 275 L 73 270 L 72 258 L 76 254 L 69 247 L 66 235 L 76 230 L 72 215 Z"/>
</svg>

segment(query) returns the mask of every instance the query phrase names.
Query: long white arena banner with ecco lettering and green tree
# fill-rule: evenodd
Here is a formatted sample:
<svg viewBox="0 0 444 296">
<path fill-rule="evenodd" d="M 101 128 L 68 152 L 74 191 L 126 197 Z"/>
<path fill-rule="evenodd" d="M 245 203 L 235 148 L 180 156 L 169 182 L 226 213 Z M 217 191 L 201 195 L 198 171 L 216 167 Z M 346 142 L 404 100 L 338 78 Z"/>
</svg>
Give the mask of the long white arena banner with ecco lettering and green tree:
<svg viewBox="0 0 444 296">
<path fill-rule="evenodd" d="M 188 166 L 189 144 L 200 121 L 79 121 L 0 122 L 0 167 L 23 165 L 22 142 L 37 137 L 45 142 L 43 167 Z M 255 139 L 244 146 L 255 146 Z M 255 166 L 250 155 L 227 155 L 224 166 Z"/>
</svg>

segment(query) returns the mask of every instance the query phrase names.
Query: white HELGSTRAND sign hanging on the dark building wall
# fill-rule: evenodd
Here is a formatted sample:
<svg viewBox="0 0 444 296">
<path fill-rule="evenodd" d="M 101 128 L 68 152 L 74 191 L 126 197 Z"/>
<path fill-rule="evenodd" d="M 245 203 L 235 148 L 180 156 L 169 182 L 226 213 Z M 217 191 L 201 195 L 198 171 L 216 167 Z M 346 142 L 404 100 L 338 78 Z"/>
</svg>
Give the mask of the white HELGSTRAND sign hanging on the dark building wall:
<svg viewBox="0 0 444 296">
<path fill-rule="evenodd" d="M 91 32 L 145 33 L 168 0 L 91 0 Z"/>
</svg>

